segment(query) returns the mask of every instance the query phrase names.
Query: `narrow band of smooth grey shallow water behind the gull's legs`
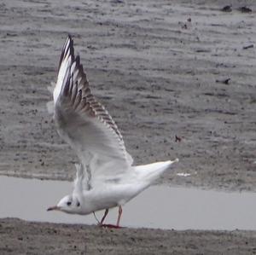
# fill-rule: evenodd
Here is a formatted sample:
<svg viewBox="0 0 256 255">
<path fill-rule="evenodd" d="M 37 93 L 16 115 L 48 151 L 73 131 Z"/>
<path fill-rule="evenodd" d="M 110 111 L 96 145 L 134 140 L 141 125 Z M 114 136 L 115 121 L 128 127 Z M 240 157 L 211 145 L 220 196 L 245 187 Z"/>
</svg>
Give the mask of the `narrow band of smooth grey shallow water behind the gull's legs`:
<svg viewBox="0 0 256 255">
<path fill-rule="evenodd" d="M 46 212 L 72 191 L 72 183 L 0 177 L 0 217 L 95 224 L 93 215 Z M 256 194 L 154 186 L 124 206 L 121 225 L 160 229 L 256 229 Z M 115 223 L 113 208 L 106 223 Z M 96 213 L 102 217 L 102 212 Z"/>
</svg>

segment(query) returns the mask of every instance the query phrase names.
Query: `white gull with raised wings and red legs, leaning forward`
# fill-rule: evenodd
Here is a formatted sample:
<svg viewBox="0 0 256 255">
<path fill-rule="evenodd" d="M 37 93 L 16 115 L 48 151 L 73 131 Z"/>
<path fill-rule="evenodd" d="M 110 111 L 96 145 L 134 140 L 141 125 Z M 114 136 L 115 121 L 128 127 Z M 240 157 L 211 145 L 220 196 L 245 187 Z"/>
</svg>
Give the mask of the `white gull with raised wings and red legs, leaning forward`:
<svg viewBox="0 0 256 255">
<path fill-rule="evenodd" d="M 91 94 L 90 86 L 75 57 L 73 39 L 68 36 L 61 52 L 58 78 L 53 92 L 54 119 L 59 135 L 79 157 L 73 194 L 47 211 L 86 215 L 119 206 L 115 227 L 119 227 L 122 206 L 148 188 L 178 159 L 133 166 L 133 159 L 117 125 Z"/>
</svg>

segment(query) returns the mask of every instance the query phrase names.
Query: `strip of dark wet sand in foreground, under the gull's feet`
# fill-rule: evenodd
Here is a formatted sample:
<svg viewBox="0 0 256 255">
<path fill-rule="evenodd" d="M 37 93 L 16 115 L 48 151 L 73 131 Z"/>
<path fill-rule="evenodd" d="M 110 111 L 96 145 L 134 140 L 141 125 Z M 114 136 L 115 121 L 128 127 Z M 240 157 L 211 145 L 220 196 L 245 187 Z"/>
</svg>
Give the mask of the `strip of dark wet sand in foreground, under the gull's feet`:
<svg viewBox="0 0 256 255">
<path fill-rule="evenodd" d="M 249 231 L 101 229 L 0 220 L 1 254 L 254 254 Z"/>
</svg>

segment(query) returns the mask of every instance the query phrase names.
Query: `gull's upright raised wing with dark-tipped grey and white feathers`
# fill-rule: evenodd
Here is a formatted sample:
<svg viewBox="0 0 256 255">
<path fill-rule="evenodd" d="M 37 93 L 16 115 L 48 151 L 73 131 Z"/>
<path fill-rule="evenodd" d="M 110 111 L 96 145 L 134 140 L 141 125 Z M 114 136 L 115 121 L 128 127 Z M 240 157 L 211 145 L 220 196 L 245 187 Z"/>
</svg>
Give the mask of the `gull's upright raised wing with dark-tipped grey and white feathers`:
<svg viewBox="0 0 256 255">
<path fill-rule="evenodd" d="M 123 138 L 108 111 L 91 94 L 70 36 L 61 52 L 54 102 L 58 132 L 84 165 L 87 186 L 130 169 L 132 159 Z"/>
</svg>

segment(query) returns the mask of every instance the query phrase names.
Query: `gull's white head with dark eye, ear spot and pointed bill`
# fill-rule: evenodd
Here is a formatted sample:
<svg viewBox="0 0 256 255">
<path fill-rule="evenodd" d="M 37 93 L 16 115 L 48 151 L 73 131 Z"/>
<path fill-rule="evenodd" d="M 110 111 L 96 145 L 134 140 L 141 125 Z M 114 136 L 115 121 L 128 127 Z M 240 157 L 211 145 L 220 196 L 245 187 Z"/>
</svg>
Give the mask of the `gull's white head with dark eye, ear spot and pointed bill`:
<svg viewBox="0 0 256 255">
<path fill-rule="evenodd" d="M 80 207 L 79 199 L 74 197 L 72 194 L 68 194 L 59 201 L 57 206 L 51 206 L 47 211 L 55 210 L 67 213 L 79 213 Z"/>
</svg>

